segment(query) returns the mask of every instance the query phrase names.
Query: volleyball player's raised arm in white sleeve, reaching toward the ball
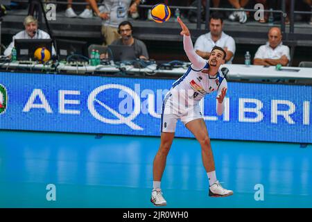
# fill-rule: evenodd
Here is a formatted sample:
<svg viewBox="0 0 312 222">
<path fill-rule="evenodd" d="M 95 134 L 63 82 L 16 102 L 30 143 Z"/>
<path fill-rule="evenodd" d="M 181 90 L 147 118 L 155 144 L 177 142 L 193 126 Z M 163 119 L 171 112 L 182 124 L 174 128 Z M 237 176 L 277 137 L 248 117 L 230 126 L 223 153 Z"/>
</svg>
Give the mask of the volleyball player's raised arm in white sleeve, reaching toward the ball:
<svg viewBox="0 0 312 222">
<path fill-rule="evenodd" d="M 187 57 L 189 58 L 190 62 L 192 63 L 192 68 L 195 70 L 201 70 L 206 65 L 206 60 L 198 56 L 193 48 L 193 42 L 191 40 L 191 33 L 189 32 L 189 28 L 182 22 L 180 17 L 177 17 L 177 22 L 179 22 L 182 31 L 180 35 L 183 35 L 183 46 L 184 51 L 187 53 Z"/>
</svg>

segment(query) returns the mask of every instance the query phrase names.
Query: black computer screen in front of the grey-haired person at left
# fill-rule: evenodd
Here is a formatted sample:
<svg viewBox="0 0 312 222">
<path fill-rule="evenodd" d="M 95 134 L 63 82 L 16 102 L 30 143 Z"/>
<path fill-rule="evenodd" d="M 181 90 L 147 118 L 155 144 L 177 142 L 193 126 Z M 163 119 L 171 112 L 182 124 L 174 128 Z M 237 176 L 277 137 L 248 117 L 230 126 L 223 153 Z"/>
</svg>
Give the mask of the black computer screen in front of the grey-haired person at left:
<svg viewBox="0 0 312 222">
<path fill-rule="evenodd" d="M 52 53 L 51 39 L 16 39 L 14 40 L 15 49 L 17 51 L 17 60 L 35 60 L 35 50 L 44 47 Z"/>
</svg>

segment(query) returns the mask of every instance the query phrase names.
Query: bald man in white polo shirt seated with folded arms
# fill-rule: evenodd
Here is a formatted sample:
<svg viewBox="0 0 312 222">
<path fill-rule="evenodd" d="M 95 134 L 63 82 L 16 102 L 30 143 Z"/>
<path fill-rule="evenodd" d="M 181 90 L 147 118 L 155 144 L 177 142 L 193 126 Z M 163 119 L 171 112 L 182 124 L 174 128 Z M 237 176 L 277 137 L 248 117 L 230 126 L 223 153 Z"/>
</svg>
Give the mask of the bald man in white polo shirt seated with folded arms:
<svg viewBox="0 0 312 222">
<path fill-rule="evenodd" d="M 260 46 L 254 55 L 254 65 L 288 65 L 291 56 L 288 46 L 284 46 L 281 42 L 281 37 L 279 28 L 270 28 L 268 42 Z"/>
</svg>

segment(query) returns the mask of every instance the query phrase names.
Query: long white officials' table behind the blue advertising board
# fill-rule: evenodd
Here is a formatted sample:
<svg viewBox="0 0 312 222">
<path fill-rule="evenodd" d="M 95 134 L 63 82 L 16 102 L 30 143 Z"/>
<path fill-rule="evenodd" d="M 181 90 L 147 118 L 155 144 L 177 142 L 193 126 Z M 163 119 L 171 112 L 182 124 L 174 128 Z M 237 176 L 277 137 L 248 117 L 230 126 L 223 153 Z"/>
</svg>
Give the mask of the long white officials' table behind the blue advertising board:
<svg viewBox="0 0 312 222">
<path fill-rule="evenodd" d="M 69 65 L 64 63 L 57 63 L 51 65 L 42 64 L 19 64 L 15 63 L 4 63 L 1 65 L 3 69 L 27 69 L 29 71 L 55 71 L 55 72 L 65 72 L 68 74 L 105 74 L 105 73 L 119 73 L 123 71 L 125 74 L 143 74 L 144 76 L 153 76 L 157 74 L 158 76 L 173 75 L 176 78 L 182 76 L 186 71 L 189 62 L 185 62 L 182 67 L 177 67 L 174 69 L 157 69 L 157 64 L 148 65 L 144 68 L 135 68 L 133 65 L 114 65 L 112 62 L 110 65 Z M 284 79 L 284 80 L 311 80 L 312 81 L 312 68 L 304 67 L 282 67 L 281 70 L 276 70 L 274 66 L 263 67 L 260 65 L 250 65 L 249 67 L 245 65 L 222 65 L 220 69 L 227 68 L 227 78 L 229 80 L 263 80 L 263 79 Z"/>
</svg>

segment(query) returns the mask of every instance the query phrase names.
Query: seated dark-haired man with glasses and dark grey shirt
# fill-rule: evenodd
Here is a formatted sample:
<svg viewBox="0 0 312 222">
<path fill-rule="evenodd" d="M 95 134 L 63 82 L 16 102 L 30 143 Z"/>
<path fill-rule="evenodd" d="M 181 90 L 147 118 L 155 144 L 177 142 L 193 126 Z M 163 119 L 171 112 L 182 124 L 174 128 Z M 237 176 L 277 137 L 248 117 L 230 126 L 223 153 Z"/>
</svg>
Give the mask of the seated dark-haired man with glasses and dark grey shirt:
<svg viewBox="0 0 312 222">
<path fill-rule="evenodd" d="M 142 60 L 148 60 L 148 51 L 146 45 L 141 40 L 132 37 L 132 24 L 128 21 L 121 22 L 118 27 L 121 39 L 112 42 L 112 45 L 132 46 L 135 50 L 135 56 Z"/>
</svg>

